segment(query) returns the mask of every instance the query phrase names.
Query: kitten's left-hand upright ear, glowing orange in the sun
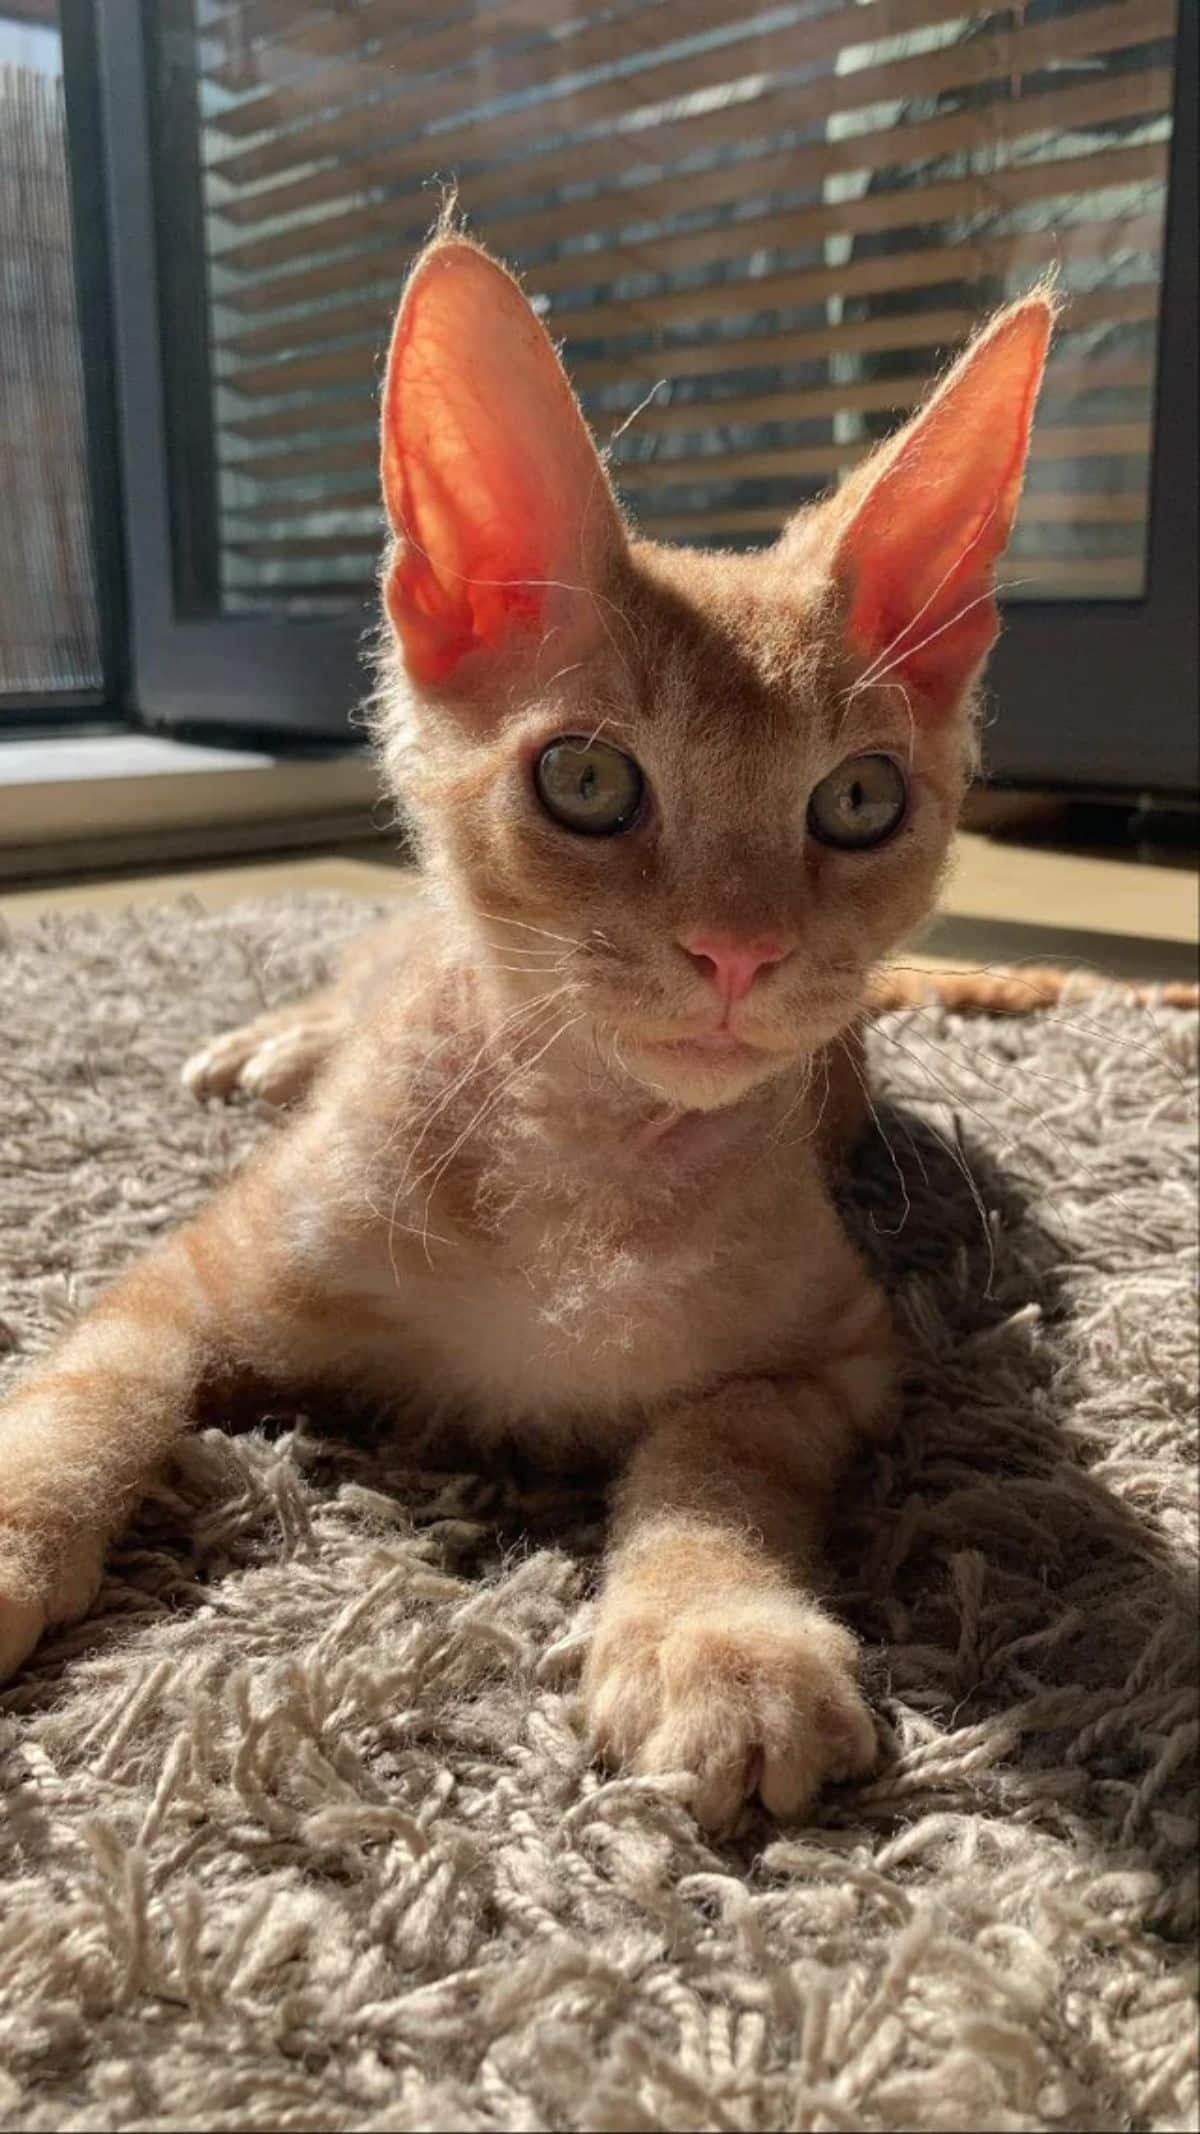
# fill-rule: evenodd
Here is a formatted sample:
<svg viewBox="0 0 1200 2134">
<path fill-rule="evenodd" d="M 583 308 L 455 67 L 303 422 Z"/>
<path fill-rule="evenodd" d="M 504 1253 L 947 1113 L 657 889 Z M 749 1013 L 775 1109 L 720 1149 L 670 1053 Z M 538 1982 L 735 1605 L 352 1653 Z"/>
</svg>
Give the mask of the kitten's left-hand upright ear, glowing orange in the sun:
<svg viewBox="0 0 1200 2134">
<path fill-rule="evenodd" d="M 463 237 L 412 269 L 386 367 L 384 602 L 408 672 L 472 694 L 579 657 L 623 544 L 609 476 L 530 301 Z"/>
</svg>

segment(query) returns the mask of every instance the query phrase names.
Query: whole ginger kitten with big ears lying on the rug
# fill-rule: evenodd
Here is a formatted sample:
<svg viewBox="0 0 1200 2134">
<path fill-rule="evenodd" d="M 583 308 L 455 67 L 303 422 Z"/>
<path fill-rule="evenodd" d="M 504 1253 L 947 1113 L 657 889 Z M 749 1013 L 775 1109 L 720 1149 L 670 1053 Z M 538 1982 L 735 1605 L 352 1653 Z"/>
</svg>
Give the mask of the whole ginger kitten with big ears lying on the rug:
<svg viewBox="0 0 1200 2134">
<path fill-rule="evenodd" d="M 273 1048 L 258 1086 L 312 1088 L 0 1413 L 0 1673 L 88 1609 L 201 1396 L 301 1383 L 619 1464 L 587 1726 L 692 1773 L 702 1825 L 869 1769 L 814 1579 L 895 1340 L 826 1176 L 954 828 L 1051 316 L 1004 309 L 767 553 L 673 551 L 508 273 L 423 252 L 376 721 L 429 909 L 194 1063 L 222 1088 Z"/>
</svg>

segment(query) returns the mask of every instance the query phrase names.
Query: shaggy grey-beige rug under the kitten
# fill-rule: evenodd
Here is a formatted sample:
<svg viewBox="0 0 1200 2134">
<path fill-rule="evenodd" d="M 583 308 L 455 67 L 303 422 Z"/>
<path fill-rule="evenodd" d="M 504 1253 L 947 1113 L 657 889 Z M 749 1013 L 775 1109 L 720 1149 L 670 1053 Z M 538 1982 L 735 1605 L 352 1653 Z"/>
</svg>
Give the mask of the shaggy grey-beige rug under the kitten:
<svg viewBox="0 0 1200 2134">
<path fill-rule="evenodd" d="M 177 1067 L 365 915 L 0 941 L 4 1372 L 269 1131 Z M 190 1440 L 0 1699 L 0 2123 L 1194 2128 L 1194 1046 L 1117 994 L 878 1033 L 884 1761 L 803 1827 L 589 1767 L 583 1483 Z"/>
</svg>

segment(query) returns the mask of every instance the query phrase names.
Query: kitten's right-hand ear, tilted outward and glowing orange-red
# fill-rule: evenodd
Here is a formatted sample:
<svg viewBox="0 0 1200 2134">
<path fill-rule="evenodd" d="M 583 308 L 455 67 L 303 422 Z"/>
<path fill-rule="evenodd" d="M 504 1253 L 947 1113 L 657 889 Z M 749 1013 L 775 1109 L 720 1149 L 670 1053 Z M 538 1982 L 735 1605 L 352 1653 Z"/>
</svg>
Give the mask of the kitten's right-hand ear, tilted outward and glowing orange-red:
<svg viewBox="0 0 1200 2134">
<path fill-rule="evenodd" d="M 931 401 L 841 491 L 835 544 L 846 634 L 865 672 L 950 713 L 999 630 L 995 563 L 1008 546 L 1055 301 L 999 312 Z"/>
</svg>

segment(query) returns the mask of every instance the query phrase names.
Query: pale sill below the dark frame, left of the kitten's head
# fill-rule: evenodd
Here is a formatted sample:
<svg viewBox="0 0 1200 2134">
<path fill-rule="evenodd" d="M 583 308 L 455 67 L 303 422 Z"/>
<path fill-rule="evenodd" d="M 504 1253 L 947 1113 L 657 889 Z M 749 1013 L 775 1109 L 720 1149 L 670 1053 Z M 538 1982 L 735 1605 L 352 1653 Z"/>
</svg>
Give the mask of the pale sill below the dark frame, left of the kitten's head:
<svg viewBox="0 0 1200 2134">
<path fill-rule="evenodd" d="M 0 738 L 0 879 L 369 839 L 365 751 L 271 755 L 162 734 Z"/>
</svg>

